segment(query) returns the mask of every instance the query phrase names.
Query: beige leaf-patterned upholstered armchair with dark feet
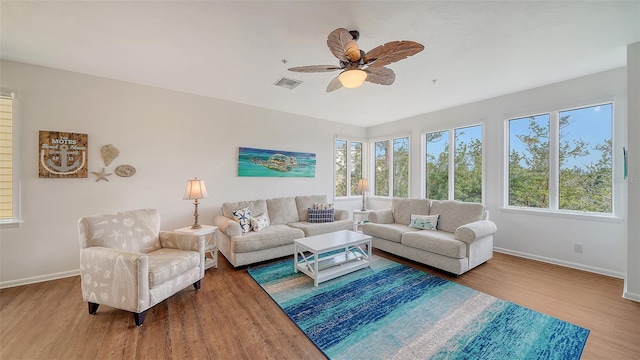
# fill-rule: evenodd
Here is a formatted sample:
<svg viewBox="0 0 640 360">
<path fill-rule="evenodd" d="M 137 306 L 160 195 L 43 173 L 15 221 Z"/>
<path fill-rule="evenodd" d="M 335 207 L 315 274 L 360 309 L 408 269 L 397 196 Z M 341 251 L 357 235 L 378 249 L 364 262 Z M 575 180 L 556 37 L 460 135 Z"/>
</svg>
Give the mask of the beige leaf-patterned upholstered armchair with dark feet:
<svg viewBox="0 0 640 360">
<path fill-rule="evenodd" d="M 147 309 L 204 277 L 204 238 L 160 231 L 154 209 L 78 220 L 82 298 L 89 314 L 99 305 L 133 313 L 141 326 Z"/>
</svg>

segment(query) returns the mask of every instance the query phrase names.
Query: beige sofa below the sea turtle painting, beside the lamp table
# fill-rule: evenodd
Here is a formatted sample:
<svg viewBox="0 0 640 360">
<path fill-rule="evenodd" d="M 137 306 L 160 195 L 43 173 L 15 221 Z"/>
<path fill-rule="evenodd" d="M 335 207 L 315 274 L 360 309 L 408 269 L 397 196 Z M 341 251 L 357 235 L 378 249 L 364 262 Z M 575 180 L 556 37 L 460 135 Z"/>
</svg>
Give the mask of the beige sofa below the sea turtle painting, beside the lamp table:
<svg viewBox="0 0 640 360">
<path fill-rule="evenodd" d="M 308 222 L 307 209 L 327 204 L 325 195 L 280 197 L 222 204 L 216 216 L 218 248 L 234 267 L 253 264 L 293 254 L 293 240 L 339 230 L 353 230 L 347 210 L 334 209 L 331 222 Z M 243 234 L 233 212 L 249 208 L 252 216 L 266 215 L 269 225 Z"/>
</svg>

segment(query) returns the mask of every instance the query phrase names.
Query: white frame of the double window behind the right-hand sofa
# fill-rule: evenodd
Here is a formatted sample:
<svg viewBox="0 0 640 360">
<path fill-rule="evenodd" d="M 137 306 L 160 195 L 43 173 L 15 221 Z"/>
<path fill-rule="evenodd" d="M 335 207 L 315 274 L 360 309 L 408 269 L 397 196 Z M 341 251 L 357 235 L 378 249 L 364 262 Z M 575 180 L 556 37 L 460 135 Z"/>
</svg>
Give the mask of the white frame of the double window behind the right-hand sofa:
<svg viewBox="0 0 640 360">
<path fill-rule="evenodd" d="M 420 175 L 420 187 L 421 187 L 421 197 L 423 199 L 427 198 L 427 135 L 431 134 L 431 133 L 437 133 L 437 132 L 445 132 L 447 131 L 449 134 L 448 136 L 448 141 L 449 141 L 449 156 L 448 156 L 448 161 L 449 161 L 449 166 L 448 166 L 448 178 L 447 178 L 447 199 L 444 200 L 455 200 L 455 191 L 456 191 L 456 183 L 455 183 L 455 172 L 456 172 L 456 130 L 460 130 L 460 129 L 465 129 L 465 128 L 470 128 L 470 127 L 476 127 L 476 126 L 480 126 L 480 142 L 482 144 L 482 164 L 481 164 L 481 171 L 482 171 L 482 176 L 481 176 L 481 202 L 484 204 L 485 203 L 485 197 L 486 197 L 486 188 L 485 188 L 485 180 L 486 180 L 486 146 L 485 146 L 485 139 L 486 139 L 486 124 L 484 123 L 484 121 L 476 121 L 476 122 L 471 122 L 471 123 L 466 123 L 466 124 L 458 124 L 456 126 L 452 126 L 452 127 L 446 127 L 446 128 L 441 128 L 438 130 L 423 130 L 421 132 L 421 164 L 420 164 L 420 169 L 421 169 L 421 175 Z"/>
</svg>

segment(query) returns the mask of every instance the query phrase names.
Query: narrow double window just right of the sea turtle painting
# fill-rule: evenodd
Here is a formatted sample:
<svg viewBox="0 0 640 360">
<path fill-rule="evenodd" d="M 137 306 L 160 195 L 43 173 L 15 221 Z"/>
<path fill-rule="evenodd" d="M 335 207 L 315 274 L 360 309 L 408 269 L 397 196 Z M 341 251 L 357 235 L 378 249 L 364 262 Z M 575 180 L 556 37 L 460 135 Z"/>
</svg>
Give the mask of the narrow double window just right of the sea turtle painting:
<svg viewBox="0 0 640 360">
<path fill-rule="evenodd" d="M 362 142 L 336 139 L 335 146 L 335 195 L 357 195 L 358 180 L 362 178 Z"/>
</svg>

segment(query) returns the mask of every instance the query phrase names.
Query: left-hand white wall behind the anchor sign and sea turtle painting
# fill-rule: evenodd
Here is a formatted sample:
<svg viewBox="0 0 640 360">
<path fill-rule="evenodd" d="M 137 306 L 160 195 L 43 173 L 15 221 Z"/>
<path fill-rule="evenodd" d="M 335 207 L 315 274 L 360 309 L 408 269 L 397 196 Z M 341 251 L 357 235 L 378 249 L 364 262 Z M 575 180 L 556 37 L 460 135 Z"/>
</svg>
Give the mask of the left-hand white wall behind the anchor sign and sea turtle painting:
<svg viewBox="0 0 640 360">
<path fill-rule="evenodd" d="M 18 90 L 22 157 L 22 218 L 0 231 L 0 287 L 73 275 L 78 269 L 78 218 L 157 208 L 162 228 L 193 223 L 193 202 L 182 200 L 186 182 L 207 184 L 200 222 L 212 223 L 224 201 L 298 194 L 333 195 L 333 139 L 362 138 L 360 127 L 306 118 L 174 91 L 10 61 L 0 63 L 1 86 Z M 213 80 L 212 80 L 213 81 Z M 275 88 L 275 91 L 289 91 Z M 89 135 L 89 171 L 104 166 L 100 148 L 120 156 L 107 168 L 130 164 L 130 178 L 109 182 L 38 178 L 38 131 Z M 238 147 L 312 152 L 315 178 L 237 176 Z M 356 198 L 340 203 L 359 208 Z M 347 207 L 344 207 L 347 206 Z"/>
</svg>

